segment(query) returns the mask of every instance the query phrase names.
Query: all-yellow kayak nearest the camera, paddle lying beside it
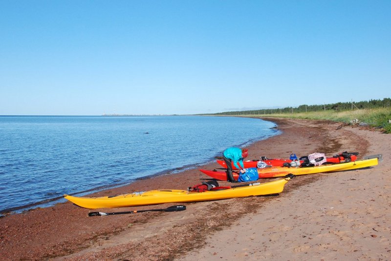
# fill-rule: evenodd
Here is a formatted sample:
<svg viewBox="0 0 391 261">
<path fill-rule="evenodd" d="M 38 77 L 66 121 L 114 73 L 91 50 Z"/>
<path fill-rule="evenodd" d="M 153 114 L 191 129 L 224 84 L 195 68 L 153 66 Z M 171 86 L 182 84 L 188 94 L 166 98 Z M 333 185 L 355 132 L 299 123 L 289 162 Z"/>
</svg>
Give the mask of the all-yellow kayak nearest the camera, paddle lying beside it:
<svg viewBox="0 0 391 261">
<path fill-rule="evenodd" d="M 289 177 L 279 180 L 247 184 L 237 188 L 224 190 L 208 190 L 205 192 L 190 192 L 188 190 L 150 190 L 134 192 L 113 197 L 64 197 L 74 204 L 88 209 L 120 208 L 130 206 L 143 206 L 163 203 L 185 203 L 196 201 L 219 200 L 235 197 L 261 196 L 278 194 L 282 192 Z"/>
</svg>

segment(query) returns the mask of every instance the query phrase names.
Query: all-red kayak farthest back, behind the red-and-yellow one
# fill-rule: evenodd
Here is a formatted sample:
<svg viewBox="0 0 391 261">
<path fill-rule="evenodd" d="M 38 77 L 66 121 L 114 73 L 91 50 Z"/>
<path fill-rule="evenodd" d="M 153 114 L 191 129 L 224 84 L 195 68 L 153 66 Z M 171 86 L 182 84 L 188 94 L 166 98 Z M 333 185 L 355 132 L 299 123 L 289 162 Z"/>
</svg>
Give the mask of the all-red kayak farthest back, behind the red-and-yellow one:
<svg viewBox="0 0 391 261">
<path fill-rule="evenodd" d="M 348 153 L 350 155 L 350 159 L 348 159 L 348 161 L 355 161 L 357 159 L 357 155 L 358 153 Z M 264 160 L 251 160 L 251 161 L 243 161 L 243 165 L 245 168 L 249 168 L 249 167 L 257 167 L 257 163 L 259 161 L 263 161 L 264 163 L 266 163 L 266 165 L 269 165 L 269 166 L 277 166 L 277 167 L 282 167 L 284 165 L 284 163 L 291 163 L 292 160 L 289 160 L 289 159 L 267 159 L 265 158 Z M 342 153 L 338 154 L 338 155 L 335 155 L 333 157 L 327 157 L 326 159 L 326 162 L 330 162 L 330 163 L 345 163 L 345 162 L 348 162 L 346 160 L 346 158 L 344 156 L 342 156 Z M 301 160 L 300 161 L 300 164 L 302 164 L 304 161 Z M 225 161 L 223 160 L 217 160 L 217 163 L 223 167 L 227 167 L 226 164 L 225 164 Z M 232 167 L 233 169 L 237 169 L 233 164 L 232 164 Z"/>
</svg>

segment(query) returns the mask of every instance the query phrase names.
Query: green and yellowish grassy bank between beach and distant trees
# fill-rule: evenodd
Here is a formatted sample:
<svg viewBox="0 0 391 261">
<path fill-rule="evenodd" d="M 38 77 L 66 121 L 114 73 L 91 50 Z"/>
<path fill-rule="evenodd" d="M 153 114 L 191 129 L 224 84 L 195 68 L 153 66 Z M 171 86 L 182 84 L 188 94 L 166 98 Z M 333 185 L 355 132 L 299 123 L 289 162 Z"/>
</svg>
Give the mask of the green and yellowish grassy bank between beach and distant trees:
<svg viewBox="0 0 391 261">
<path fill-rule="evenodd" d="M 236 115 L 239 116 L 239 115 Z M 351 111 L 318 111 L 303 113 L 242 115 L 245 117 L 281 117 L 293 119 L 324 119 L 342 123 L 359 122 L 361 125 L 382 128 L 385 133 L 391 133 L 391 108 L 360 109 Z M 357 120 L 357 121 L 356 121 Z"/>
</svg>

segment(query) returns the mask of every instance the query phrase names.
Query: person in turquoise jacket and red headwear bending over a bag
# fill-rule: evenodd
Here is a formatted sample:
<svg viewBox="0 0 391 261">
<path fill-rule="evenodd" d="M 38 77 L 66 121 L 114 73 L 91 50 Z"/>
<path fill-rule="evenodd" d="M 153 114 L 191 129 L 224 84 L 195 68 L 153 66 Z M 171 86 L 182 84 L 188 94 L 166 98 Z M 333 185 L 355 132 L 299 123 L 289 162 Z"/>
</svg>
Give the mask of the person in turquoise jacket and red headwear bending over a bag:
<svg viewBox="0 0 391 261">
<path fill-rule="evenodd" d="M 227 165 L 227 181 L 229 182 L 237 182 L 232 175 L 232 162 L 234 162 L 234 166 L 240 169 L 241 173 L 244 173 L 244 165 L 243 159 L 248 156 L 248 149 L 240 149 L 237 147 L 230 147 L 224 150 L 223 159 L 225 164 Z M 239 165 L 238 165 L 239 162 Z"/>
</svg>

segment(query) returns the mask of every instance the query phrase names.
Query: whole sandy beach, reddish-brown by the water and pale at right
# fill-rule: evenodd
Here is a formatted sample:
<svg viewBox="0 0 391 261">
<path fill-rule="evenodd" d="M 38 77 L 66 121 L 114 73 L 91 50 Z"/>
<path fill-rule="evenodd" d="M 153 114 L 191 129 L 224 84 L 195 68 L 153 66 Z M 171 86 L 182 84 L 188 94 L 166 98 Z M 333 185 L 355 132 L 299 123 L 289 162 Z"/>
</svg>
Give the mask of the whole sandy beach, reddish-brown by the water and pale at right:
<svg viewBox="0 0 391 261">
<path fill-rule="evenodd" d="M 0 218 L 1 260 L 391 260 L 391 136 L 329 121 L 269 120 L 282 134 L 249 146 L 249 159 L 349 151 L 384 161 L 298 176 L 277 196 L 188 203 L 182 212 L 89 217 L 177 204 L 88 210 L 66 202 L 7 215 Z M 184 190 L 207 179 L 196 168 L 92 195 Z"/>
</svg>

